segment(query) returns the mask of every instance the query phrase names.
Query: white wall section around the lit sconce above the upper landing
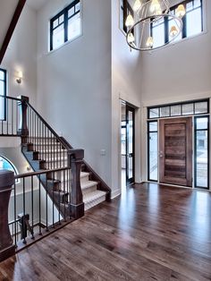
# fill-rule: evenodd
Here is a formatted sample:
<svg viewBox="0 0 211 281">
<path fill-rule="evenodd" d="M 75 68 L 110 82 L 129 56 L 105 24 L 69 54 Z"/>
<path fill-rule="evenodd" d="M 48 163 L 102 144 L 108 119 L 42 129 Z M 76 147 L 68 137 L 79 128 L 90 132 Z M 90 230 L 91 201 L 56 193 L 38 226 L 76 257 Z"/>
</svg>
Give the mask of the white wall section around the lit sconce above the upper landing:
<svg viewBox="0 0 211 281">
<path fill-rule="evenodd" d="M 0 17 L 0 24 L 2 22 L 4 18 Z M 8 71 L 8 96 L 28 96 L 32 105 L 37 96 L 36 28 L 37 13 L 25 4 L 1 64 Z M 23 72 L 21 85 L 15 81 L 19 71 Z"/>
</svg>

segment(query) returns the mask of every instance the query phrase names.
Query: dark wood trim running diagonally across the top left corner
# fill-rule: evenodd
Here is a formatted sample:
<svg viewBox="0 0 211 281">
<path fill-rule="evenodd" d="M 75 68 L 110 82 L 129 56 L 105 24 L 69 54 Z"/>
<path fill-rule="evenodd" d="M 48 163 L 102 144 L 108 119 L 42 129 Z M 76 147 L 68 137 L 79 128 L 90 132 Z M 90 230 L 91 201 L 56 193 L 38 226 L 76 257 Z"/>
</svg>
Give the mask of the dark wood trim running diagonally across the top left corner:
<svg viewBox="0 0 211 281">
<path fill-rule="evenodd" d="M 16 7 L 15 12 L 13 14 L 13 19 L 10 23 L 9 29 L 6 32 L 6 36 L 4 38 L 4 43 L 3 43 L 2 47 L 1 47 L 1 50 L 0 50 L 0 64 L 2 64 L 2 60 L 4 58 L 6 49 L 7 49 L 8 45 L 10 43 L 10 40 L 13 36 L 13 31 L 14 31 L 14 29 L 16 27 L 16 24 L 17 24 L 17 22 L 20 18 L 20 15 L 21 15 L 21 12 L 22 12 L 22 9 L 23 9 L 25 3 L 26 3 L 26 0 L 19 0 L 19 3 L 17 4 L 17 7 Z"/>
</svg>

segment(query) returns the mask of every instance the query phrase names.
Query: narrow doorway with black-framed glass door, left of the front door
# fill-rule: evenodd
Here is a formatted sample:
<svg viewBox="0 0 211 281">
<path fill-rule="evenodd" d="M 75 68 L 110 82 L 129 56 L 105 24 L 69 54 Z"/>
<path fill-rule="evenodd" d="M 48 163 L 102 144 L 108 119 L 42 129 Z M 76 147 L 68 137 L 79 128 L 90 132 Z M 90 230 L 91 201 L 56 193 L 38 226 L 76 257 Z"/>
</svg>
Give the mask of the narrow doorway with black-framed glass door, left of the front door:
<svg viewBox="0 0 211 281">
<path fill-rule="evenodd" d="M 122 101 L 121 167 L 122 187 L 134 183 L 135 108 Z"/>
</svg>

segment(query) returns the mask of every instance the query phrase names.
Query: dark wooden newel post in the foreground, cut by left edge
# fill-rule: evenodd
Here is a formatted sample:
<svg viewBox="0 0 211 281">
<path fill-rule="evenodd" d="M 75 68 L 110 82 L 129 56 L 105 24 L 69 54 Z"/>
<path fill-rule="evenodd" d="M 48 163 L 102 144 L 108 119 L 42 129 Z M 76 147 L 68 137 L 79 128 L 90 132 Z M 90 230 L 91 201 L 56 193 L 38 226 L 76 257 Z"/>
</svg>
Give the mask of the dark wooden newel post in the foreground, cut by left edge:
<svg viewBox="0 0 211 281">
<path fill-rule="evenodd" d="M 0 261 L 6 260 L 15 253 L 15 246 L 8 226 L 8 208 L 14 184 L 14 173 L 0 171 Z"/>
</svg>

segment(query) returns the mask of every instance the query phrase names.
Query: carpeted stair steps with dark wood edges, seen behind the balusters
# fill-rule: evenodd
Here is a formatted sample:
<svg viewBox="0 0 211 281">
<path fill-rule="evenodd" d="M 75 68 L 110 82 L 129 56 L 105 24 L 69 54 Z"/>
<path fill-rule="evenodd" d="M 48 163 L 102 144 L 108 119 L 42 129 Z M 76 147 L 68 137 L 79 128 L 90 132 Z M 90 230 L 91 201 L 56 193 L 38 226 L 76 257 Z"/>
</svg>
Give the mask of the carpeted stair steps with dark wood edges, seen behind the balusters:
<svg viewBox="0 0 211 281">
<path fill-rule="evenodd" d="M 29 142 L 22 144 L 22 153 L 35 172 L 68 166 L 67 149 L 55 138 L 29 137 L 28 139 Z M 67 179 L 63 178 L 63 175 L 59 178 L 56 175 L 54 178 L 49 175 L 47 179 L 48 191 L 54 190 L 55 194 L 58 192 L 57 200 L 60 200 L 62 204 L 68 203 L 69 194 L 65 190 L 66 181 Z M 100 181 L 93 179 L 92 172 L 87 171 L 87 166 L 83 163 L 80 172 L 80 186 L 85 210 L 106 200 L 107 192 L 99 190 L 100 184 Z M 46 185 L 45 179 L 43 179 L 43 185 Z"/>
</svg>

